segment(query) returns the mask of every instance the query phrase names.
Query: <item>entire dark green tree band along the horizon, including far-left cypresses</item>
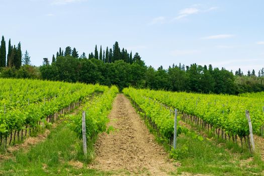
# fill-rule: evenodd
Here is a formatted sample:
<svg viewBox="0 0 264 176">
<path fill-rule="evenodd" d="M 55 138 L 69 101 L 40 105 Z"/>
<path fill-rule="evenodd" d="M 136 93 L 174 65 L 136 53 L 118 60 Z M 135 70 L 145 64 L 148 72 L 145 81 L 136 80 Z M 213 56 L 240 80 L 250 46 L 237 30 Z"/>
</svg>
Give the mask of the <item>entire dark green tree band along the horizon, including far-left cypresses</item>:
<svg viewBox="0 0 264 176">
<path fill-rule="evenodd" d="M 264 91 L 264 68 L 243 74 L 239 68 L 233 74 L 225 68 L 213 68 L 212 65 L 172 64 L 168 69 L 160 66 L 154 69 L 146 66 L 138 53 L 132 55 L 125 48 L 120 49 L 118 42 L 113 48 L 107 47 L 88 54 L 79 55 L 76 48 L 59 48 L 51 59 L 43 58 L 40 67 L 30 65 L 30 56 L 26 51 L 22 56 L 21 44 L 12 46 L 9 42 L 7 57 L 5 39 L 0 46 L 0 76 L 17 78 L 38 78 L 67 82 L 100 83 L 118 85 L 120 90 L 127 86 L 154 90 L 185 91 L 214 94 L 239 94 Z M 12 54 L 13 52 L 13 54 Z M 7 59 L 7 60 L 6 60 Z M 19 61 L 18 61 L 19 60 Z M 50 62 L 51 61 L 51 62 Z M 23 63 L 23 65 L 21 64 Z"/>
</svg>

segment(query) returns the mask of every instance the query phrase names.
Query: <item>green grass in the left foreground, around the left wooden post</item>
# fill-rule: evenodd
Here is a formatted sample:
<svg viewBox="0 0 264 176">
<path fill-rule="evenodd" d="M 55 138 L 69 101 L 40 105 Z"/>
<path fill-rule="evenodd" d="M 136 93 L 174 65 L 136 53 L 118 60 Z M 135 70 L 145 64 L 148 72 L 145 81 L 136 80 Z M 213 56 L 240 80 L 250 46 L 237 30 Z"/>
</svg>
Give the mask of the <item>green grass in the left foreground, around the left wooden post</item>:
<svg viewBox="0 0 264 176">
<path fill-rule="evenodd" d="M 84 157 L 81 140 L 62 123 L 52 129 L 50 135 L 43 142 L 31 146 L 28 150 L 18 150 L 13 153 L 14 157 L 1 161 L 0 175 L 113 174 L 112 172 L 87 169 L 87 163 L 94 156 L 93 142 L 90 141 L 87 144 L 90 153 Z"/>
</svg>

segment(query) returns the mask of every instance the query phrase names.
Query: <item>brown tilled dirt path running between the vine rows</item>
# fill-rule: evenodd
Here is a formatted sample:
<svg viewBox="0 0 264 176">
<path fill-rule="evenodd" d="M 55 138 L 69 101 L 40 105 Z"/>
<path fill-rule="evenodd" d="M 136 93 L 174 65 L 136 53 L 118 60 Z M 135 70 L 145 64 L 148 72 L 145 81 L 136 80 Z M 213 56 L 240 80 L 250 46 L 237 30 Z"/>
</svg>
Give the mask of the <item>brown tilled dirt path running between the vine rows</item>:
<svg viewBox="0 0 264 176">
<path fill-rule="evenodd" d="M 140 116 L 122 94 L 117 95 L 109 115 L 109 126 L 96 143 L 96 160 L 90 168 L 125 170 L 140 175 L 167 175 L 175 171 L 167 153 L 155 141 Z"/>
</svg>

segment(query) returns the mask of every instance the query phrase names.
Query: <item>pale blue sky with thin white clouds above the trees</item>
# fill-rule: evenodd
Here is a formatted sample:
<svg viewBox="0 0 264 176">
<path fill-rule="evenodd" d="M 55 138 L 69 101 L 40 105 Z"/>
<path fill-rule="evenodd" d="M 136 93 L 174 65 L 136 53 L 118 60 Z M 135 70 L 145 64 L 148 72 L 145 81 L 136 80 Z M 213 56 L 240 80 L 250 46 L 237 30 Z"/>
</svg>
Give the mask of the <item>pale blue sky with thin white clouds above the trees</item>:
<svg viewBox="0 0 264 176">
<path fill-rule="evenodd" d="M 264 67 L 264 1 L 0 0 L 0 35 L 22 43 L 32 65 L 59 47 L 138 52 L 146 65 Z"/>
</svg>

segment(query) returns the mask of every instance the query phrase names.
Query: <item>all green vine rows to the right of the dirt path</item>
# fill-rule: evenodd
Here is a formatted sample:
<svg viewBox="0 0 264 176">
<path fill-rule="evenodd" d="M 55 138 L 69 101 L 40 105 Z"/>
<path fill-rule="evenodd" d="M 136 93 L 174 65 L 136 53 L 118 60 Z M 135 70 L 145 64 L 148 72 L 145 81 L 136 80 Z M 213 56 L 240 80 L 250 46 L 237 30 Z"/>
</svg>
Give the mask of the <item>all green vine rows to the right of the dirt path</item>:
<svg viewBox="0 0 264 176">
<path fill-rule="evenodd" d="M 146 115 L 153 119 L 153 122 L 165 137 L 173 133 L 173 118 L 171 113 L 165 112 L 159 115 L 164 107 L 178 109 L 182 113 L 182 120 L 202 126 L 204 129 L 212 130 L 223 139 L 232 138 L 237 142 L 237 136 L 240 138 L 241 145 L 244 138 L 245 143 L 249 140 L 249 126 L 245 118 L 245 111 L 250 112 L 252 128 L 255 134 L 263 134 L 264 116 L 262 107 L 264 105 L 261 99 L 262 93 L 246 94 L 237 96 L 227 95 L 203 95 L 193 93 L 172 93 L 165 91 L 136 90 L 133 88 L 124 89 L 126 95 L 132 98 L 141 109 L 146 110 Z M 246 97 L 243 97 L 246 96 Z M 256 98 L 257 97 L 257 98 Z M 155 112 L 149 105 L 157 101 Z M 160 106 L 163 105 L 164 107 Z M 154 114 L 149 114 L 149 112 Z M 155 117 L 158 118 L 155 118 Z M 180 130 L 181 131 L 181 130 Z"/>
</svg>

